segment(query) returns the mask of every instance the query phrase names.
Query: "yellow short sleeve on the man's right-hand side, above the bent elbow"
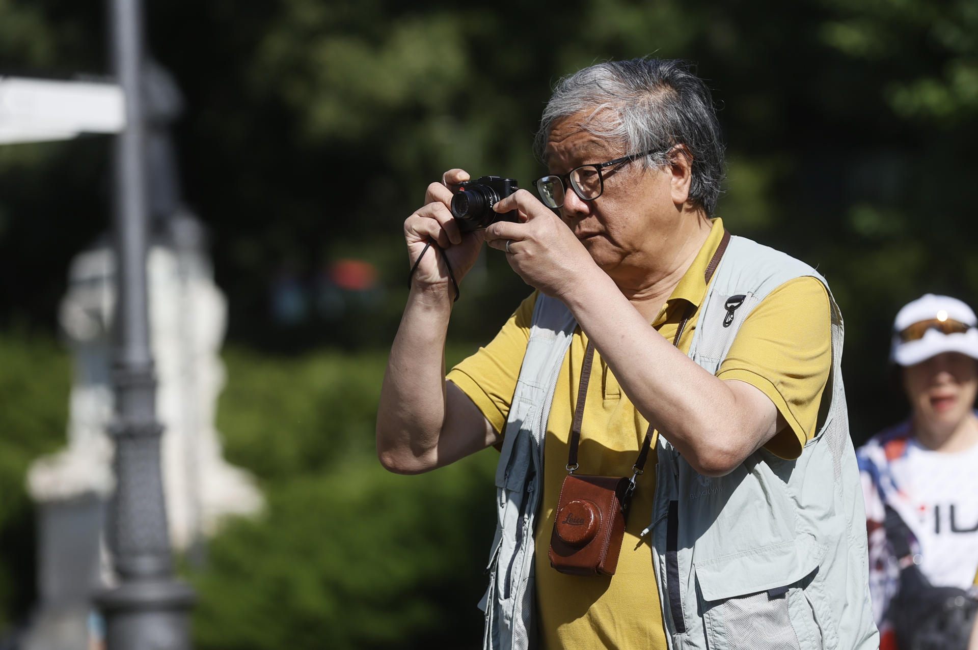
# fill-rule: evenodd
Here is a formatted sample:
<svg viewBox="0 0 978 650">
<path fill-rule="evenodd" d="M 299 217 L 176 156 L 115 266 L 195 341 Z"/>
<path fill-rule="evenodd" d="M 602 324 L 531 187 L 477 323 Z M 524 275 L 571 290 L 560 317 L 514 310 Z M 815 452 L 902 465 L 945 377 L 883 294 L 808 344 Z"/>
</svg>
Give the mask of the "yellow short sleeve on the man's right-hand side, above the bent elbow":
<svg viewBox="0 0 978 650">
<path fill-rule="evenodd" d="M 828 292 L 817 278 L 784 282 L 740 326 L 717 376 L 767 395 L 788 426 L 765 448 L 797 458 L 816 434 L 819 405 L 832 365 Z"/>
</svg>

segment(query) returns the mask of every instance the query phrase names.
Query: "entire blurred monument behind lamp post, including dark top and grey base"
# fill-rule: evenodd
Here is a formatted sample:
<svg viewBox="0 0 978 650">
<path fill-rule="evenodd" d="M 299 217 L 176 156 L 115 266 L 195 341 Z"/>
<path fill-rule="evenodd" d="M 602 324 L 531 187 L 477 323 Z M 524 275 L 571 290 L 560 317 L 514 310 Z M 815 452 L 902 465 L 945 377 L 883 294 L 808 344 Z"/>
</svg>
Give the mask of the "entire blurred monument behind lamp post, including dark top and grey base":
<svg viewBox="0 0 978 650">
<path fill-rule="evenodd" d="M 167 124 L 182 100 L 156 65 L 148 66 L 146 84 L 154 219 L 147 270 L 156 412 L 164 427 L 163 488 L 172 545 L 194 561 L 223 518 L 257 512 L 262 498 L 252 477 L 224 460 L 215 428 L 225 381 L 220 347 L 227 304 L 213 281 L 200 221 L 180 197 Z M 29 650 L 86 648 L 98 628 L 91 620 L 91 593 L 112 582 L 102 527 L 113 490 L 108 426 L 114 413 L 114 268 L 111 242 L 104 238 L 79 253 L 68 272 L 59 313 L 74 359 L 67 449 L 39 458 L 27 475 L 39 511 L 41 600 L 23 646 Z"/>
</svg>

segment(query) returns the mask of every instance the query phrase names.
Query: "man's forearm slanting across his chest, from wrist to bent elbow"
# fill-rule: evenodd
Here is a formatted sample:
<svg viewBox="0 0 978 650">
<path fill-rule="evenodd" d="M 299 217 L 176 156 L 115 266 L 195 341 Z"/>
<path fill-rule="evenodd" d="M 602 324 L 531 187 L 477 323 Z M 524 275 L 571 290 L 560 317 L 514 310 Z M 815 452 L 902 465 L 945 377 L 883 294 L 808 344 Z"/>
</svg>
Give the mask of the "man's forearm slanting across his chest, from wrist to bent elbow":
<svg viewBox="0 0 978 650">
<path fill-rule="evenodd" d="M 610 278 L 599 272 L 575 285 L 573 294 L 564 296 L 565 304 L 639 412 L 697 470 L 725 473 L 737 456 L 758 446 L 757 439 L 768 432 L 745 430 L 761 422 L 728 382 L 659 335 Z"/>
</svg>

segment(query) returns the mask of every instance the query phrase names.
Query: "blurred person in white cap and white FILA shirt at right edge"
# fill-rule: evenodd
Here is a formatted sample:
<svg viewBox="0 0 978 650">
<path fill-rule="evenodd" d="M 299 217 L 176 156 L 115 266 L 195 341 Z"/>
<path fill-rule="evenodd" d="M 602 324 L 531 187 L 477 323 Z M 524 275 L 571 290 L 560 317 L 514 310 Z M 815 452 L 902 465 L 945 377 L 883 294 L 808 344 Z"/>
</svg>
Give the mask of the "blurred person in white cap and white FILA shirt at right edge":
<svg viewBox="0 0 978 650">
<path fill-rule="evenodd" d="M 911 414 L 857 453 L 881 650 L 978 650 L 976 325 L 966 304 L 929 293 L 893 324 Z"/>
</svg>

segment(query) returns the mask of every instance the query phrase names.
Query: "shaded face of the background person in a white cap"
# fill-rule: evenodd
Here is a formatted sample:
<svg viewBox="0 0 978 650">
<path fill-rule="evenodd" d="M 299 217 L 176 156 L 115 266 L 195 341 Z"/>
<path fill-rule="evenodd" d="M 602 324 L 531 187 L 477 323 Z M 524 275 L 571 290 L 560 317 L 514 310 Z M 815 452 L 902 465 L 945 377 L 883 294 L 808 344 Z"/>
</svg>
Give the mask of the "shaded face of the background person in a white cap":
<svg viewBox="0 0 978 650">
<path fill-rule="evenodd" d="M 974 408 L 978 362 L 956 352 L 939 354 L 904 368 L 904 388 L 920 424 L 951 433 Z"/>
</svg>

